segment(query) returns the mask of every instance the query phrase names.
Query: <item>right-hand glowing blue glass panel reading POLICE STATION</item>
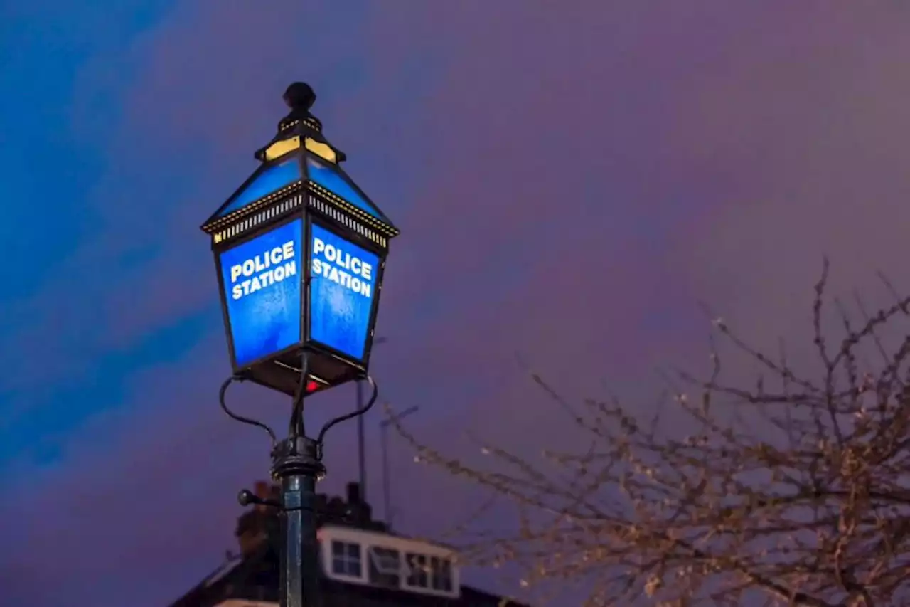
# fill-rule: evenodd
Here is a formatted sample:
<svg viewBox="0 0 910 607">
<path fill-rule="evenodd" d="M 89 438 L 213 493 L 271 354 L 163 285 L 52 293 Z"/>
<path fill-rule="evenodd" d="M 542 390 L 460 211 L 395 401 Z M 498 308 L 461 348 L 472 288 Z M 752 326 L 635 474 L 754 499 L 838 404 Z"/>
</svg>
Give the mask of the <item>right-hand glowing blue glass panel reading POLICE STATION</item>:
<svg viewBox="0 0 910 607">
<path fill-rule="evenodd" d="M 379 256 L 312 225 L 309 337 L 362 360 L 379 283 Z"/>
</svg>

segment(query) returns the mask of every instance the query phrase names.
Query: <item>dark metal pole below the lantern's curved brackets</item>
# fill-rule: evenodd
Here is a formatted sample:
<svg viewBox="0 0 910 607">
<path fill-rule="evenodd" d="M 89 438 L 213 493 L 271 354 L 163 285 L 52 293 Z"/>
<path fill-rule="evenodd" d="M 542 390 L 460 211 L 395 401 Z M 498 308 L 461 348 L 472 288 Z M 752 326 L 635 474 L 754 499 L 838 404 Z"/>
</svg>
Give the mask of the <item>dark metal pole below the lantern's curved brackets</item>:
<svg viewBox="0 0 910 607">
<path fill-rule="evenodd" d="M 319 607 L 316 481 L 325 476 L 316 441 L 288 437 L 272 453 L 272 478 L 281 485 L 281 607 Z"/>
</svg>

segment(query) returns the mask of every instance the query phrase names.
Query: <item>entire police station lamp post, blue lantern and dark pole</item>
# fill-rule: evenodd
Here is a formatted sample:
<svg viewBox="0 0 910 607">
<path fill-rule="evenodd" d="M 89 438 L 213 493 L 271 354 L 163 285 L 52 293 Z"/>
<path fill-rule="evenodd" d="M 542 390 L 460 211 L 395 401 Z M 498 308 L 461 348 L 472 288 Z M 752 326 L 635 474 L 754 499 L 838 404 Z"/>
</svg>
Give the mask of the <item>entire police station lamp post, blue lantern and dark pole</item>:
<svg viewBox="0 0 910 607">
<path fill-rule="evenodd" d="M 259 149 L 253 174 L 202 225 L 215 254 L 233 375 L 219 402 L 233 419 L 271 438 L 271 476 L 281 500 L 240 491 L 244 506 L 279 510 L 282 607 L 319 604 L 316 483 L 326 474 L 322 446 L 330 427 L 362 416 L 376 402 L 369 355 L 389 240 L 399 231 L 349 178 L 346 157 L 322 135 L 309 108 L 316 95 L 295 82 L 290 113 Z M 372 395 L 307 436 L 304 398 L 366 380 Z M 292 396 L 288 437 L 239 416 L 225 403 L 232 382 L 250 381 Z"/>
</svg>

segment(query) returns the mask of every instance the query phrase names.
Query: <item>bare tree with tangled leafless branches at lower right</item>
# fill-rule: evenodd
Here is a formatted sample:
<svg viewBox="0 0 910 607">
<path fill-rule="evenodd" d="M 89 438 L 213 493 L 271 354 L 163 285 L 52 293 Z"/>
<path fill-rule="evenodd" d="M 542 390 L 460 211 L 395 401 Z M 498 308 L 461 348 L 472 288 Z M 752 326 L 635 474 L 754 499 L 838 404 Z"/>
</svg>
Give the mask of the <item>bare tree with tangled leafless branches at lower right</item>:
<svg viewBox="0 0 910 607">
<path fill-rule="evenodd" d="M 842 302 L 825 305 L 828 270 L 814 286 L 817 380 L 783 344 L 765 355 L 715 318 L 710 374 L 667 376 L 675 410 L 650 419 L 615 398 L 573 406 L 531 374 L 587 437 L 575 451 L 538 461 L 480 443 L 481 469 L 393 418 L 420 461 L 514 505 L 514 532 L 460 526 L 465 556 L 513 563 L 529 587 L 580 584 L 591 606 L 910 604 L 910 336 L 893 350 L 883 337 L 910 297 L 882 277 L 895 303 L 869 314 L 854 297 L 854 323 Z M 754 386 L 725 379 L 718 342 L 753 361 Z"/>
</svg>

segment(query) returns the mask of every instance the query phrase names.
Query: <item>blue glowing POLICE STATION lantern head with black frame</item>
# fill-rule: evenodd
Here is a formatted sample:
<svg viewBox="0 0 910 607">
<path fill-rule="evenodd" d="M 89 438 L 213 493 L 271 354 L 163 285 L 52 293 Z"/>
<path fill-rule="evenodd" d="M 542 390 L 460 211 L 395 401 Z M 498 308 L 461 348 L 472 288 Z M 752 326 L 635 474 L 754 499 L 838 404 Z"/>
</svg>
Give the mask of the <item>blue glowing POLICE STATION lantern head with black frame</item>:
<svg viewBox="0 0 910 607">
<path fill-rule="evenodd" d="M 294 395 L 367 376 L 389 240 L 399 234 L 340 164 L 294 83 L 258 168 L 202 225 L 236 376 Z M 306 361 L 306 362 L 302 362 Z M 304 368 L 306 371 L 304 372 Z"/>
</svg>

